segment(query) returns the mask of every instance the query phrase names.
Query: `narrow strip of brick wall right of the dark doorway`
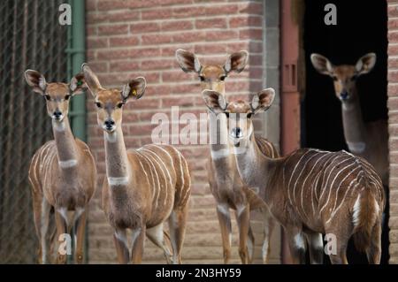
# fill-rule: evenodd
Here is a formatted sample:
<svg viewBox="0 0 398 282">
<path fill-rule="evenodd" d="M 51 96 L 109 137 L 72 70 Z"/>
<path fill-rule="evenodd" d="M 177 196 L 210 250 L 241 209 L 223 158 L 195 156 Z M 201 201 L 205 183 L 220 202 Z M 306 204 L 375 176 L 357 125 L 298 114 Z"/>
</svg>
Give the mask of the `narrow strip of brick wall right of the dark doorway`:
<svg viewBox="0 0 398 282">
<path fill-rule="evenodd" d="M 388 0 L 390 263 L 398 263 L 398 1 Z"/>
</svg>

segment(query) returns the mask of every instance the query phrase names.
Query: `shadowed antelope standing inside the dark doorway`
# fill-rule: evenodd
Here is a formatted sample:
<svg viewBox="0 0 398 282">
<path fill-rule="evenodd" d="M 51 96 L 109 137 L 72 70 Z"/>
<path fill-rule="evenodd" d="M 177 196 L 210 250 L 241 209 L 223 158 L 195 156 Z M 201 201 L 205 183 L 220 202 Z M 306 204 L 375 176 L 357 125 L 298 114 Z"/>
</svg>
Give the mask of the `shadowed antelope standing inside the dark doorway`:
<svg viewBox="0 0 398 282">
<path fill-rule="evenodd" d="M 371 163 L 385 186 L 388 186 L 388 128 L 387 120 L 364 123 L 356 79 L 371 72 L 376 54 L 361 57 L 356 65 L 333 65 L 326 57 L 311 55 L 315 69 L 333 78 L 334 91 L 341 101 L 344 137 L 348 149 Z"/>
</svg>

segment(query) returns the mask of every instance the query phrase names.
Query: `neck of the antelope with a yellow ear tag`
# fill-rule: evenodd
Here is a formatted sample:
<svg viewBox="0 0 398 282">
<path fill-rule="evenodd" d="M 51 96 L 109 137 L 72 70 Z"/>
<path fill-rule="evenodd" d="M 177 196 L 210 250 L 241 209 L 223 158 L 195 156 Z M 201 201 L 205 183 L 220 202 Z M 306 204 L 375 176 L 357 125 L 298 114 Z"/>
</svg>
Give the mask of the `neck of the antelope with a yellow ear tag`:
<svg viewBox="0 0 398 282">
<path fill-rule="evenodd" d="M 113 133 L 103 133 L 105 141 L 106 175 L 110 186 L 125 185 L 129 179 L 129 164 L 121 126 Z"/>
</svg>

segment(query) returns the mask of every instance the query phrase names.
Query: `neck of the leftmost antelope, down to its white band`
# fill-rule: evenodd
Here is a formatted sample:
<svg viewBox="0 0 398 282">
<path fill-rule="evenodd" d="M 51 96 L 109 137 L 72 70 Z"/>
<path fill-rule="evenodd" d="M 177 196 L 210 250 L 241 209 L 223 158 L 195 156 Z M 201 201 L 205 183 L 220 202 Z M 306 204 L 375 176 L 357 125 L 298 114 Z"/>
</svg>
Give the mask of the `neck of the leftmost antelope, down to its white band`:
<svg viewBox="0 0 398 282">
<path fill-rule="evenodd" d="M 54 133 L 59 166 L 61 168 L 75 166 L 79 161 L 79 153 L 68 118 L 65 117 L 62 121 L 52 120 L 52 131 Z"/>
</svg>

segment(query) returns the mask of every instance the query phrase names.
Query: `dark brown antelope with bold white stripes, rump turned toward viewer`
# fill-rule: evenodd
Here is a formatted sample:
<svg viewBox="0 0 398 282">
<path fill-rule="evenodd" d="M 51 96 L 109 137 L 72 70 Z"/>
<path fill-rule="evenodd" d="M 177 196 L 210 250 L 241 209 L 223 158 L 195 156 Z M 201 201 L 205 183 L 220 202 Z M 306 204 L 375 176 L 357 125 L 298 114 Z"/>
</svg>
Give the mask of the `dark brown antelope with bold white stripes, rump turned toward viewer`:
<svg viewBox="0 0 398 282">
<path fill-rule="evenodd" d="M 379 263 L 381 214 L 385 195 L 381 179 L 371 164 L 346 151 L 298 149 L 288 156 L 270 158 L 259 149 L 252 116 L 266 111 L 275 92 L 264 89 L 251 103 L 226 103 L 224 95 L 204 90 L 211 111 L 229 116 L 228 133 L 241 178 L 260 187 L 264 202 L 287 232 L 295 263 L 322 263 L 322 233 L 333 234 L 332 263 L 348 263 L 348 239 L 366 252 L 370 263 Z"/>
</svg>

